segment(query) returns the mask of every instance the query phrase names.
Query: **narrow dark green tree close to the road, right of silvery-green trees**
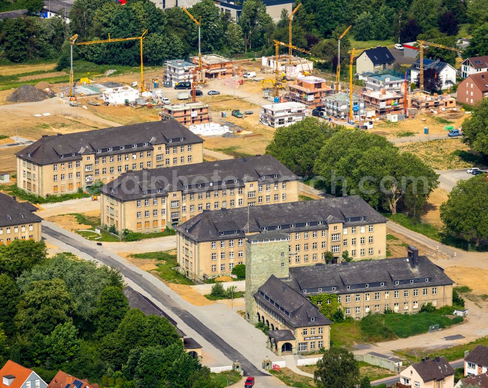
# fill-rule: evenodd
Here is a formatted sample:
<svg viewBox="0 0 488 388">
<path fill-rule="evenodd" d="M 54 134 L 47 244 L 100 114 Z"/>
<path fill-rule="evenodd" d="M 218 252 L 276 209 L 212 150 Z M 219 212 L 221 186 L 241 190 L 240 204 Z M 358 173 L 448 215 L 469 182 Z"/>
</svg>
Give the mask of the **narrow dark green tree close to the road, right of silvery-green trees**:
<svg viewBox="0 0 488 388">
<path fill-rule="evenodd" d="M 97 335 L 103 337 L 115 331 L 128 310 L 129 302 L 120 287 L 105 287 L 94 314 Z"/>
</svg>

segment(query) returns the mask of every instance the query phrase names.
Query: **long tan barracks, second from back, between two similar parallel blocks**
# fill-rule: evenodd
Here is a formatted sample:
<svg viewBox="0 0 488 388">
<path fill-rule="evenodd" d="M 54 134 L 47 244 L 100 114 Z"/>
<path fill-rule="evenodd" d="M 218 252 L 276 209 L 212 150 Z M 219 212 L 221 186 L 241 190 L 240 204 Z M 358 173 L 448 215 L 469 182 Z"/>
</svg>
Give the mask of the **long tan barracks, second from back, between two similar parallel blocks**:
<svg viewBox="0 0 488 388">
<path fill-rule="evenodd" d="M 159 232 L 204 210 L 298 201 L 298 176 L 271 155 L 129 171 L 102 187 L 102 225 Z"/>
</svg>

